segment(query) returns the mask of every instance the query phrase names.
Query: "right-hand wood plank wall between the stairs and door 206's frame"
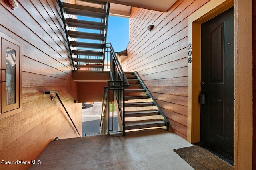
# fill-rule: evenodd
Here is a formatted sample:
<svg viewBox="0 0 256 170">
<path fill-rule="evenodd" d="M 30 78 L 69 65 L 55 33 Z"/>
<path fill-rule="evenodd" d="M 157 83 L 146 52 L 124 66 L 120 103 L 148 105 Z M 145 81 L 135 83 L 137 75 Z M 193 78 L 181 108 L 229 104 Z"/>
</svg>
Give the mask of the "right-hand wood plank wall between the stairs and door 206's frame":
<svg viewBox="0 0 256 170">
<path fill-rule="evenodd" d="M 137 71 L 170 122 L 187 138 L 188 21 L 209 0 L 178 0 L 168 12 L 131 9 L 127 71 Z M 154 25 L 148 31 L 148 25 Z"/>
</svg>

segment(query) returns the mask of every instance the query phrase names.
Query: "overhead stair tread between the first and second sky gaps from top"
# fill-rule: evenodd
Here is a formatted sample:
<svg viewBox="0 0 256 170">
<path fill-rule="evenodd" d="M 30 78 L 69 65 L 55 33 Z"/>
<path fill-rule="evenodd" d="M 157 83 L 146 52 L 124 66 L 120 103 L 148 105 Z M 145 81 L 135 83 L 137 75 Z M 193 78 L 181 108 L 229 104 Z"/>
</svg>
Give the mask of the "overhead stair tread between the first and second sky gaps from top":
<svg viewBox="0 0 256 170">
<path fill-rule="evenodd" d="M 96 29 L 96 30 L 105 30 L 104 22 L 94 22 L 94 21 L 86 21 L 86 20 L 78 20 L 73 18 L 66 18 L 66 23 L 69 27 L 78 27 L 84 29 Z"/>
</svg>

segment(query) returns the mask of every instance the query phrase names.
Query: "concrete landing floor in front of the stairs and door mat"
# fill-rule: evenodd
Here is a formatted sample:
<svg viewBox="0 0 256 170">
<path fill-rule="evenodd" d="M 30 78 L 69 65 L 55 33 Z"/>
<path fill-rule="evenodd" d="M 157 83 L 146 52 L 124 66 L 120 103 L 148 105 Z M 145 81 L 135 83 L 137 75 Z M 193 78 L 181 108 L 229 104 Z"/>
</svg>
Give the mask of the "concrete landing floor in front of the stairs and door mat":
<svg viewBox="0 0 256 170">
<path fill-rule="evenodd" d="M 193 170 L 173 149 L 192 144 L 164 129 L 52 141 L 32 170 Z"/>
</svg>

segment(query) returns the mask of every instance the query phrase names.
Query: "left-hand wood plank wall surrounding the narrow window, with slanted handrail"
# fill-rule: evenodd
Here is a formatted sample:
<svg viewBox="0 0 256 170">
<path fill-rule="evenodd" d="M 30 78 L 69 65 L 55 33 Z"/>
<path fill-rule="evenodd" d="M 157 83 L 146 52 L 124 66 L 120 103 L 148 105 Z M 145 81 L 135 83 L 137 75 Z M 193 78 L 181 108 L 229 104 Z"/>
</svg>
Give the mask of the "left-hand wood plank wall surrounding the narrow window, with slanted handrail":
<svg viewBox="0 0 256 170">
<path fill-rule="evenodd" d="M 57 98 L 44 91 L 57 90 L 82 134 L 78 83 L 57 0 L 19 0 L 10 9 L 0 1 L 0 31 L 23 44 L 22 112 L 0 119 L 0 159 L 35 160 L 54 140 L 78 137 Z M 27 169 L 30 165 L 2 165 L 0 169 Z"/>
</svg>

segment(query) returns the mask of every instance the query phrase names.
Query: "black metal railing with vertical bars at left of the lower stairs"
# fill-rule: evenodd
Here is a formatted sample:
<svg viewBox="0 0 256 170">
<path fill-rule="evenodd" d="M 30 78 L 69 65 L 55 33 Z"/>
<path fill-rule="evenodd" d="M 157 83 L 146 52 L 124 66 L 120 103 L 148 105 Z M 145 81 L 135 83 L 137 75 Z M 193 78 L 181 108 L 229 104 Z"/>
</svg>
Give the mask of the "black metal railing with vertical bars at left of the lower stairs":
<svg viewBox="0 0 256 170">
<path fill-rule="evenodd" d="M 102 119 L 100 124 L 100 135 L 110 134 L 111 132 L 120 132 L 125 135 L 125 88 L 130 86 L 128 79 L 126 78 L 124 71 L 118 61 L 116 53 L 111 45 L 107 43 L 108 53 L 106 53 L 107 58 L 109 58 L 110 63 L 110 80 L 108 81 L 108 86 L 104 88 L 104 96 L 102 101 Z M 114 119 L 114 112 L 112 111 L 112 116 L 110 116 L 109 104 L 110 104 L 110 92 L 112 92 L 112 99 L 116 107 L 116 120 Z M 113 104 L 113 105 L 114 105 Z M 108 105 L 108 106 L 106 106 Z M 114 108 L 113 108 L 114 109 Z M 106 116 L 106 114 L 108 116 Z M 107 120 L 105 120 L 107 119 Z M 111 120 L 110 120 L 111 119 Z M 110 123 L 110 121 L 112 123 Z M 114 123 L 117 121 L 117 123 Z M 106 123 L 107 122 L 107 123 Z M 106 132 L 107 124 L 107 132 Z M 117 125 L 116 128 L 114 125 Z M 111 125 L 111 126 L 110 126 Z"/>
</svg>

